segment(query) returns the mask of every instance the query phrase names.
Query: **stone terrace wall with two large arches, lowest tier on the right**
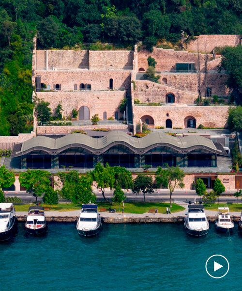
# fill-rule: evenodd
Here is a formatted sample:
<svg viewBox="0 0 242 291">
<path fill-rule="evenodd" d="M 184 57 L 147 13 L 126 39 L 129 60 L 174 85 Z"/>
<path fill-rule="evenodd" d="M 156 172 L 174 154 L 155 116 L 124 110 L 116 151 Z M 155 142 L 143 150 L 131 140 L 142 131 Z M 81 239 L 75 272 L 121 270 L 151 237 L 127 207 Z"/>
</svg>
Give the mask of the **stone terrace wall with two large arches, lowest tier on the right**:
<svg viewBox="0 0 242 291">
<path fill-rule="evenodd" d="M 134 106 L 134 121 L 139 122 L 144 115 L 154 119 L 154 126 L 164 126 L 166 119 L 171 119 L 172 128 L 185 128 L 184 118 L 194 116 L 197 126 L 222 128 L 227 125 L 228 106 Z M 167 117 L 166 114 L 169 114 Z"/>
</svg>

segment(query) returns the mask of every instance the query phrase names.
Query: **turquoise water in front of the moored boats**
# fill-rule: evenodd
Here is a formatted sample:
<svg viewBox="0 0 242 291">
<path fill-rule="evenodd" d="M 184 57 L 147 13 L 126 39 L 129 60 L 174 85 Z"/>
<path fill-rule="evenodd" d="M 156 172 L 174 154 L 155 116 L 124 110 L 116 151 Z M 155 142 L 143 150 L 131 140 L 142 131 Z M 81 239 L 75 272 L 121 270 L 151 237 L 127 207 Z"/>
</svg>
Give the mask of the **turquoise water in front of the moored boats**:
<svg viewBox="0 0 242 291">
<path fill-rule="evenodd" d="M 0 244 L 0 290 L 241 291 L 242 236 L 194 238 L 182 224 L 104 225 L 80 237 L 74 224 L 49 224 L 43 237 L 25 234 Z M 225 256 L 228 274 L 213 279 L 206 260 Z"/>
</svg>

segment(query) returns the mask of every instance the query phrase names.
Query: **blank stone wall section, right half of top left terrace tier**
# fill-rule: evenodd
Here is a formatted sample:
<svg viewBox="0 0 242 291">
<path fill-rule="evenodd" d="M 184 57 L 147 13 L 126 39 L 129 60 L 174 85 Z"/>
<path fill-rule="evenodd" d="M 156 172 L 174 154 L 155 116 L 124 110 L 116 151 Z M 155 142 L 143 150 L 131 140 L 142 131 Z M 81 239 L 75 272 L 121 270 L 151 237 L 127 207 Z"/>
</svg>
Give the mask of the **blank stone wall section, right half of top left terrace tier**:
<svg viewBox="0 0 242 291">
<path fill-rule="evenodd" d="M 90 69 L 110 69 L 123 67 L 133 67 L 133 50 L 90 50 L 89 66 Z M 132 69 L 132 68 L 130 68 Z"/>
</svg>

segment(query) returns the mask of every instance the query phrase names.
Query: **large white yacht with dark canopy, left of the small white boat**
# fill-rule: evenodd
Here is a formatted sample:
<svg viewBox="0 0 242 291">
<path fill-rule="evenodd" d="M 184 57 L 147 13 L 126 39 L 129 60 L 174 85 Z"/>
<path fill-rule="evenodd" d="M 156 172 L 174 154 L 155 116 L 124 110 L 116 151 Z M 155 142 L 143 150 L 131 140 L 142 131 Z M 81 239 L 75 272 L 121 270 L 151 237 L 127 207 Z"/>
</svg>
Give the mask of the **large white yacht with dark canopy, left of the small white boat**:
<svg viewBox="0 0 242 291">
<path fill-rule="evenodd" d="M 184 226 L 190 235 L 203 236 L 208 233 L 209 222 L 203 204 L 189 204 Z"/>
</svg>

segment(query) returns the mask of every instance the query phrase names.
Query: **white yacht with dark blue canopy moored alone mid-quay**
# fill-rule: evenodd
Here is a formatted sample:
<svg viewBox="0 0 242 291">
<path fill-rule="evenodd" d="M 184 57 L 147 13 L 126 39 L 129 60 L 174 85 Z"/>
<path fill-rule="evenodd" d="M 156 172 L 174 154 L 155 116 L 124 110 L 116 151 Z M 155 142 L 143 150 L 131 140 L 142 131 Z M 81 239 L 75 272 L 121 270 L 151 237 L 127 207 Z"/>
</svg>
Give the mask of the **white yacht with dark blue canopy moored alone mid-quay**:
<svg viewBox="0 0 242 291">
<path fill-rule="evenodd" d="M 76 228 L 80 235 L 93 236 L 99 233 L 101 229 L 101 217 L 97 211 L 96 204 L 82 204 L 80 217 Z"/>
</svg>

